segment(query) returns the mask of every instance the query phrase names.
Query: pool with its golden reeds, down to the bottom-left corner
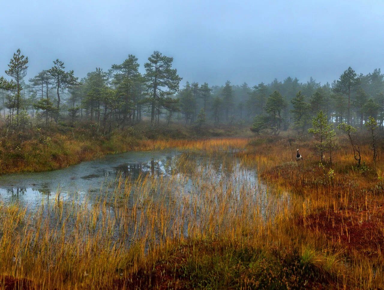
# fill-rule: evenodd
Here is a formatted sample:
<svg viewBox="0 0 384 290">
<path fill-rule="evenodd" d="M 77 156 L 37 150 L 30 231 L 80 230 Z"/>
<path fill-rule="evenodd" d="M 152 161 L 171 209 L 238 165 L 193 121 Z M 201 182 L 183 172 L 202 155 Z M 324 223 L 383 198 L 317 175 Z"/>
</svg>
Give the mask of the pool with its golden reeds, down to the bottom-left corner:
<svg viewBox="0 0 384 290">
<path fill-rule="evenodd" d="M 51 288 L 126 286 L 183 240 L 262 238 L 289 203 L 238 151 L 125 153 L 0 183 L 0 270 Z"/>
</svg>

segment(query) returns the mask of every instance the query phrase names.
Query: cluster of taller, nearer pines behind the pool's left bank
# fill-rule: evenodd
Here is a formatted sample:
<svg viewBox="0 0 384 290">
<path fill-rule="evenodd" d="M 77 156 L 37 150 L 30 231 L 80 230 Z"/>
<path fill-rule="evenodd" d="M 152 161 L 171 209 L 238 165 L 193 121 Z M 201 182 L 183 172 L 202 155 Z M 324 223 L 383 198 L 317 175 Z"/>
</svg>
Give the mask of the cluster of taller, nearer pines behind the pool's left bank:
<svg viewBox="0 0 384 290">
<path fill-rule="evenodd" d="M 12 128 L 24 128 L 36 117 L 45 125 L 88 120 L 107 130 L 140 122 L 142 114 L 149 114 L 152 125 L 158 125 L 164 110 L 178 103 L 174 94 L 182 78 L 172 68 L 173 58 L 160 52 L 148 58 L 144 75 L 137 61 L 128 55 L 108 71 L 96 68 L 79 80 L 57 59 L 26 83 L 28 57 L 19 49 L 5 70 L 11 80 L 0 79 L 2 118 Z"/>
</svg>

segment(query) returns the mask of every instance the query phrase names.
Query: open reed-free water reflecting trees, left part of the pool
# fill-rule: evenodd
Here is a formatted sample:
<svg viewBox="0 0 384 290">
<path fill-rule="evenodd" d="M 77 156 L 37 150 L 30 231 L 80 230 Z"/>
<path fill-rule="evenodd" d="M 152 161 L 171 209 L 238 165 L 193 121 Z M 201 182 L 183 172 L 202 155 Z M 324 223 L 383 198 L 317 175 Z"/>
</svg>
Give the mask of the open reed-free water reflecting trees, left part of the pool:
<svg viewBox="0 0 384 290">
<path fill-rule="evenodd" d="M 0 200 L 35 207 L 55 198 L 57 192 L 66 200 L 78 200 L 84 195 L 108 190 L 121 176 L 132 179 L 146 174 L 166 177 L 180 154 L 177 151 L 127 152 L 60 170 L 1 175 Z"/>
</svg>

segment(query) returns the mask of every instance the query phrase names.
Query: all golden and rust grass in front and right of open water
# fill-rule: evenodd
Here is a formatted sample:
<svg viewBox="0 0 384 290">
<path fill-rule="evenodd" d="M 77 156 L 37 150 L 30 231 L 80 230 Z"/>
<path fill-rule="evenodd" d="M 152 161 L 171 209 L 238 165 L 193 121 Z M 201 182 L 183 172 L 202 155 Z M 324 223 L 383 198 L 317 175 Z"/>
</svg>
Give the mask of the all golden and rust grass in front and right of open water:
<svg viewBox="0 0 384 290">
<path fill-rule="evenodd" d="M 209 158 L 197 166 L 184 154 L 168 178 L 120 178 L 113 193 L 80 203 L 58 192 L 34 211 L 1 204 L 3 280 L 59 289 L 383 288 L 382 159 L 369 162 L 364 146 L 369 170 L 358 171 L 342 145 L 330 177 L 308 142 L 248 141 L 144 141 L 146 150 Z M 247 150 L 225 153 L 236 148 Z"/>
</svg>

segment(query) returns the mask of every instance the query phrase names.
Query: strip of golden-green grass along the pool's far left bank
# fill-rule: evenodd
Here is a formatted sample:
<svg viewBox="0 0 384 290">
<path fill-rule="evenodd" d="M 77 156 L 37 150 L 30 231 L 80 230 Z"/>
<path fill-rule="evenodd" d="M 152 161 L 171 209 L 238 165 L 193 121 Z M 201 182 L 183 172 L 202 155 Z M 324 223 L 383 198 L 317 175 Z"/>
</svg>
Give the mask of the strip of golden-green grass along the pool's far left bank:
<svg viewBox="0 0 384 290">
<path fill-rule="evenodd" d="M 127 151 L 162 149 L 205 150 L 208 152 L 228 150 L 245 145 L 244 138 L 224 139 L 170 139 L 147 140 L 115 133 L 106 138 L 74 138 L 55 133 L 51 137 L 41 136 L 18 142 L 14 138 L 3 138 L 0 142 L 0 174 L 14 172 L 40 172 L 65 168 L 107 154 Z"/>
</svg>

